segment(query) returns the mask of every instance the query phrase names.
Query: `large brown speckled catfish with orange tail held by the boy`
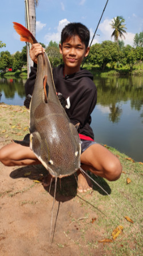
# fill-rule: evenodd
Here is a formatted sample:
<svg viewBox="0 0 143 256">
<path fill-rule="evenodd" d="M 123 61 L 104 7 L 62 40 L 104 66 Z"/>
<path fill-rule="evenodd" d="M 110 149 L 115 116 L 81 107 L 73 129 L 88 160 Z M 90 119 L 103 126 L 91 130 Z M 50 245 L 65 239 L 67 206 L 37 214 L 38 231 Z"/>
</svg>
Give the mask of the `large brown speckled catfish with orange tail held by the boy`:
<svg viewBox="0 0 143 256">
<path fill-rule="evenodd" d="M 28 29 L 13 24 L 21 41 L 37 43 Z M 58 100 L 46 53 L 39 54 L 37 60 L 30 103 L 30 148 L 53 177 L 61 178 L 80 167 L 80 137 Z"/>
</svg>

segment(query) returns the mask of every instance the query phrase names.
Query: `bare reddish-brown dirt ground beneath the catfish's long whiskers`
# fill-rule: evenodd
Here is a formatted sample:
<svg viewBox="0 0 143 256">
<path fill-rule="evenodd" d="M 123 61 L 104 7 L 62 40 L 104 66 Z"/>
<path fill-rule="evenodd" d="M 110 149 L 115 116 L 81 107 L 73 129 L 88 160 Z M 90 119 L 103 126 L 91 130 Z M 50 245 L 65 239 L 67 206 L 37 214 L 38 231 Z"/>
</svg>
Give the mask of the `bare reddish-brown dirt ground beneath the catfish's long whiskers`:
<svg viewBox="0 0 143 256">
<path fill-rule="evenodd" d="M 49 241 L 54 184 L 49 193 L 37 182 L 45 174 L 41 165 L 6 167 L 0 163 L 1 256 L 104 255 L 104 244 L 97 242 L 103 231 L 91 223 L 98 215 L 83 207 L 74 175 L 63 178 L 61 185 L 58 181 Z M 84 200 L 90 196 L 85 194 Z M 92 247 L 91 241 L 95 242 Z"/>
</svg>

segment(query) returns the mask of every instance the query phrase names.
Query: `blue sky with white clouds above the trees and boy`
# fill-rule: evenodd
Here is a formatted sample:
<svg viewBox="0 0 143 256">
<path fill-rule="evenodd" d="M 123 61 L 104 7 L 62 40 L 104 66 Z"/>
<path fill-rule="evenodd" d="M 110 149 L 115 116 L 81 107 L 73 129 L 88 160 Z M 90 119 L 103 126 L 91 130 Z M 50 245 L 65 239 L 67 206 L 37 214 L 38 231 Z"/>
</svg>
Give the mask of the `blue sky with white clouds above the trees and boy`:
<svg viewBox="0 0 143 256">
<path fill-rule="evenodd" d="M 68 22 L 82 22 L 90 29 L 92 38 L 105 3 L 106 0 L 39 0 L 36 8 L 37 41 L 46 45 L 50 40 L 59 43 L 61 30 Z M 127 28 L 125 44 L 133 45 L 134 35 L 143 30 L 142 10 L 142 0 L 109 0 L 97 30 L 100 36 L 94 37 L 93 44 L 111 40 L 111 21 L 113 17 L 123 16 Z M 0 41 L 6 43 L 6 48 L 0 51 L 7 50 L 11 54 L 21 51 L 25 45 L 14 31 L 13 21 L 25 26 L 25 0 L 1 0 L 0 3 Z"/>
</svg>

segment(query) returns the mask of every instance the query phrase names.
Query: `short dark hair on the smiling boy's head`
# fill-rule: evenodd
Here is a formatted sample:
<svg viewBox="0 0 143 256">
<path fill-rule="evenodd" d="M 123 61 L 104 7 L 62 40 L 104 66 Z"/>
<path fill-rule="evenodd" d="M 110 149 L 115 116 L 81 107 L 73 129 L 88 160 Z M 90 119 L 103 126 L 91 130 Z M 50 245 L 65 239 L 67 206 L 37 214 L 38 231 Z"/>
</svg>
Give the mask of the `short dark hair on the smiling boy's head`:
<svg viewBox="0 0 143 256">
<path fill-rule="evenodd" d="M 61 45 L 66 41 L 67 38 L 72 38 L 73 36 L 79 36 L 82 43 L 85 44 L 87 48 L 89 45 L 90 32 L 85 25 L 80 22 L 69 23 L 62 29 L 61 33 Z"/>
</svg>

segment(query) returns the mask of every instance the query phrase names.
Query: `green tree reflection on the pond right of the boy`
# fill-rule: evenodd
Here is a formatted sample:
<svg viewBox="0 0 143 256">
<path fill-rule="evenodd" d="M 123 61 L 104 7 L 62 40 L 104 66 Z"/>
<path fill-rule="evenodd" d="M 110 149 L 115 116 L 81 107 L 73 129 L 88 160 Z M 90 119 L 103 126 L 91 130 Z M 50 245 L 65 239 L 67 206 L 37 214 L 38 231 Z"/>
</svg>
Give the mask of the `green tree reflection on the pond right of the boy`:
<svg viewBox="0 0 143 256">
<path fill-rule="evenodd" d="M 98 89 L 98 104 L 109 106 L 109 121 L 118 123 L 122 114 L 120 102 L 130 100 L 130 108 L 141 110 L 143 105 L 143 78 L 95 78 Z M 141 115 L 142 117 L 142 115 Z"/>
</svg>

